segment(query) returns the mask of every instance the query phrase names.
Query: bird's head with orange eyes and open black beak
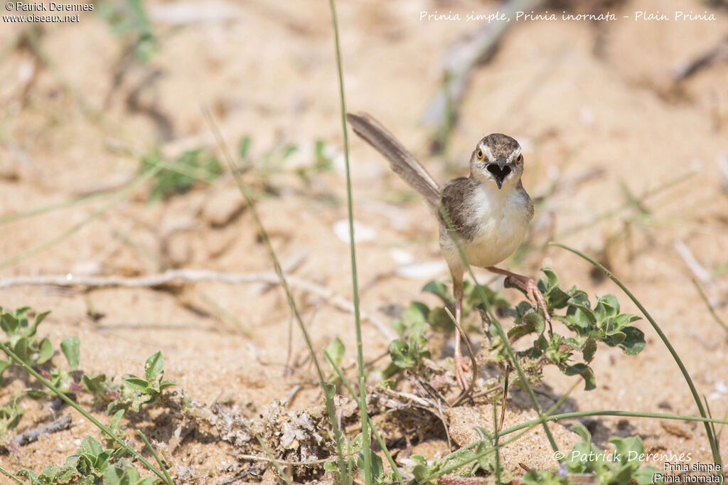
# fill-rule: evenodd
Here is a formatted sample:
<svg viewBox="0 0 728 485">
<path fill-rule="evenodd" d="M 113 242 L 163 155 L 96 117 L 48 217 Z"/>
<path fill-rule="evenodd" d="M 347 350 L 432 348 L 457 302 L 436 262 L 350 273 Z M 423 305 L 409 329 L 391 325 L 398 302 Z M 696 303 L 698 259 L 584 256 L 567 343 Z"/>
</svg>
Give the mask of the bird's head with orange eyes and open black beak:
<svg viewBox="0 0 728 485">
<path fill-rule="evenodd" d="M 470 157 L 470 173 L 481 184 L 508 188 L 521 180 L 521 145 L 510 136 L 493 133 L 478 142 Z"/>
</svg>

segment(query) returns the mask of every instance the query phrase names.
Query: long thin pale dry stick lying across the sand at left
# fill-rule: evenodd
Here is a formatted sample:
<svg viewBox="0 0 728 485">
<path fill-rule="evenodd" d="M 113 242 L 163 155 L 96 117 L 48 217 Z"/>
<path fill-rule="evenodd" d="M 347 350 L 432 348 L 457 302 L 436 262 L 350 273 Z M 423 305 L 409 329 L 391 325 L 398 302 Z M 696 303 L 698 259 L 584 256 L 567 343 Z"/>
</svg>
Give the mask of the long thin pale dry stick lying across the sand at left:
<svg viewBox="0 0 728 485">
<path fill-rule="evenodd" d="M 306 293 L 318 296 L 323 301 L 328 302 L 344 312 L 353 313 L 354 304 L 352 301 L 345 299 L 343 296 L 337 295 L 333 291 L 316 283 L 303 280 L 295 276 L 286 276 L 288 285 Z M 216 271 L 207 271 L 205 269 L 172 269 L 157 275 L 147 275 L 139 277 L 121 277 L 121 276 L 76 276 L 71 275 L 47 275 L 47 276 L 15 276 L 2 278 L 0 280 L 0 289 L 10 288 L 12 286 L 23 285 L 55 285 L 55 286 L 87 286 L 89 288 L 139 288 L 167 285 L 174 282 L 194 283 L 197 281 L 217 281 L 219 283 L 267 283 L 269 285 L 280 284 L 279 277 L 274 272 L 256 272 L 256 273 L 224 273 Z M 395 335 L 384 323 L 367 312 L 360 311 L 361 318 L 368 320 L 373 324 L 387 339 L 394 339 Z"/>
</svg>

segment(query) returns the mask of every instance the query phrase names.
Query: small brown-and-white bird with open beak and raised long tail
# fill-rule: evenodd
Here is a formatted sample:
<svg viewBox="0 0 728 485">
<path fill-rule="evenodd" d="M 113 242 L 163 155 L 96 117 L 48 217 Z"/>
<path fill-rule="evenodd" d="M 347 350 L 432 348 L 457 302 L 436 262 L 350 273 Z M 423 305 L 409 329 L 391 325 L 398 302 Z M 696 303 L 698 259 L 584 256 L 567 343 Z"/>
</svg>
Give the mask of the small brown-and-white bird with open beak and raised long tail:
<svg viewBox="0 0 728 485">
<path fill-rule="evenodd" d="M 453 280 L 455 319 L 462 313 L 462 281 L 465 272 L 457 246 L 438 209 L 442 206 L 470 264 L 505 275 L 526 291 L 531 304 L 538 305 L 547 321 L 550 317 L 544 298 L 529 277 L 495 267 L 521 245 L 534 217 L 531 197 L 523 189 L 521 146 L 510 136 L 494 133 L 478 141 L 470 157 L 470 177 L 455 178 L 441 188 L 427 170 L 368 114 L 347 114 L 355 133 L 389 160 L 389 166 L 409 186 L 422 194 L 440 221 L 440 248 Z M 465 388 L 462 374 L 467 361 L 462 357 L 460 334 L 455 334 L 455 371 Z"/>
</svg>

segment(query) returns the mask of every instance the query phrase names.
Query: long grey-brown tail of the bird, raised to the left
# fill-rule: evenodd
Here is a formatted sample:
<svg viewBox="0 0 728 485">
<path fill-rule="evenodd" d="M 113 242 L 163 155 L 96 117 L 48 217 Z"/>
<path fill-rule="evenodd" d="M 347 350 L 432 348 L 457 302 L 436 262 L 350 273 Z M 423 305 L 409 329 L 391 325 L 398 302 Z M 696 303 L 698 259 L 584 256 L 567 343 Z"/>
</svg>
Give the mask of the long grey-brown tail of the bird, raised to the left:
<svg viewBox="0 0 728 485">
<path fill-rule="evenodd" d="M 389 133 L 376 119 L 366 113 L 349 113 L 347 119 L 354 128 L 354 133 L 364 138 L 367 143 L 384 155 L 389 160 L 389 167 L 392 167 L 392 170 L 403 181 L 422 194 L 430 205 L 435 208 L 438 206 L 440 187 L 392 133 Z"/>
</svg>

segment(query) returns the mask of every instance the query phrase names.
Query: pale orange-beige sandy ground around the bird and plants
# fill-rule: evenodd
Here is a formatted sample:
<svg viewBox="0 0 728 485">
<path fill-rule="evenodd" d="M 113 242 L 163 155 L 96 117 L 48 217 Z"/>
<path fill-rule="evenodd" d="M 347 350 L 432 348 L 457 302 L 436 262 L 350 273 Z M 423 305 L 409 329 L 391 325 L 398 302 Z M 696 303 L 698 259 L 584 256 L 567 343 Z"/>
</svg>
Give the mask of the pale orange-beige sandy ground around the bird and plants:
<svg viewBox="0 0 728 485">
<path fill-rule="evenodd" d="M 716 20 L 675 21 L 672 3 L 648 0 L 607 5 L 604 9 L 618 18 L 609 23 L 515 23 L 494 58 L 475 69 L 445 156 L 430 155 L 427 140 L 432 129 L 418 119 L 440 87 L 448 45 L 483 23 L 420 21 L 420 12 L 465 15 L 498 6 L 465 0 L 340 2 L 341 49 L 348 109 L 374 114 L 438 180 L 464 174 L 475 141 L 483 134 L 502 132 L 524 146 L 523 181 L 532 196 L 547 194 L 555 180 L 566 182 L 537 208 L 527 237 L 537 251 L 503 266 L 534 276 L 539 267 L 553 267 L 563 286 L 617 294 L 625 311 L 637 313 L 619 288 L 593 277 L 584 261 L 543 245 L 558 240 L 597 255 L 660 323 L 713 416 L 724 417 L 728 335 L 711 318 L 691 279 L 702 278 L 716 312 L 728 320 L 728 272 L 714 273 L 728 261 L 728 182 L 720 170 L 721 160 L 728 165 L 728 63 L 716 62 L 679 84 L 672 79 L 676 68 L 704 55 L 727 35 L 728 9 L 720 2 L 684 3 L 685 11 L 708 12 Z M 598 8 L 598 2 L 592 4 Z M 557 15 L 563 10 L 548 8 Z M 284 267 L 297 261 L 293 276 L 351 299 L 349 248 L 334 231 L 347 208 L 328 3 L 153 0 L 146 9 L 159 36 L 157 55 L 147 64 L 124 64 L 128 36 L 114 36 L 108 23 L 91 12 L 82 12 L 79 23 L 44 25 L 35 53 L 30 43 L 19 40 L 28 24 L 3 23 L 0 45 L 7 49 L 0 58 L 0 217 L 128 180 L 138 170 L 139 156 L 155 146 L 172 157 L 197 146 L 214 149 L 201 111 L 207 106 L 229 146 L 237 147 L 244 135 L 252 140 L 255 170 L 248 171 L 245 180 L 276 194 L 262 198 L 258 210 Z M 585 12 L 579 7 L 571 11 Z M 660 11 L 670 20 L 635 20 L 637 11 Z M 114 84 L 119 70 L 124 75 Z M 150 82 L 154 71 L 159 76 Z M 135 92 L 138 103 L 154 109 L 130 106 Z M 151 111 L 162 115 L 169 130 L 165 132 Z M 313 164 L 317 140 L 334 154 L 334 167 L 313 173 L 306 182 L 296 176 L 296 168 Z M 266 152 L 287 143 L 301 149 L 286 160 L 282 172 L 263 179 Z M 416 299 L 435 304 L 420 289 L 430 279 L 445 278 L 446 269 L 437 265 L 437 229 L 427 208 L 408 197 L 409 189 L 388 172 L 379 155 L 354 137 L 351 157 L 355 218 L 373 234 L 357 244 L 362 307 L 387 323 L 391 318 L 382 309 L 388 306 L 406 306 Z M 568 183 L 595 169 L 598 176 Z M 644 200 L 649 216 L 629 209 L 595 220 L 625 203 L 621 184 L 639 196 L 676 178 L 687 180 Z M 272 271 L 250 212 L 244 210 L 229 176 L 214 184 L 197 184 L 189 194 L 155 205 L 146 202 L 148 194 L 149 184 L 58 244 L 3 264 L 0 283 L 2 278 L 24 275 L 149 275 L 159 271 L 159 259 L 186 269 Z M 0 259 L 9 261 L 57 237 L 107 202 L 96 200 L 3 224 Z M 579 224 L 585 228 L 570 231 Z M 683 245 L 695 259 L 692 267 L 677 249 Z M 432 263 L 435 269 L 398 276 L 395 270 L 404 261 Z M 478 275 L 483 281 L 490 279 L 485 272 Z M 342 365 L 353 376 L 352 315 L 323 296 L 295 289 L 294 294 L 314 347 L 323 349 L 339 336 L 347 347 Z M 505 295 L 515 299 L 518 293 Z M 204 282 L 175 292 L 84 292 L 23 285 L 3 289 L 0 305 L 52 309 L 41 336 L 50 336 L 56 345 L 65 336 L 79 336 L 80 368 L 89 374 L 104 372 L 117 379 L 126 373 L 140 375 L 144 359 L 162 350 L 165 376 L 205 406 L 226 403 L 253 419 L 298 385 L 301 391 L 291 409 L 320 405 L 312 384 L 314 372 L 304 363 L 306 349 L 295 328 L 293 361 L 301 364 L 296 374 L 283 374 L 290 312 L 277 286 Z M 90 309 L 103 318 L 90 318 Z M 248 332 L 221 315 L 234 315 Z M 637 325 L 646 333 L 644 352 L 630 357 L 601 348 L 593 362 L 598 388 L 586 392 L 578 387 L 569 398 L 570 410 L 697 415 L 664 345 L 649 323 Z M 473 338 L 478 339 L 477 332 Z M 389 339 L 365 321 L 363 342 L 366 358 L 373 359 L 387 349 Z M 440 355 L 439 350 L 433 355 Z M 573 379 L 547 371 L 542 404 L 553 403 Z M 5 382 L 0 405 L 25 385 L 23 379 Z M 513 392 L 518 402 L 509 419 L 524 412 L 518 407 L 526 403 L 522 394 Z M 90 403 L 84 399 L 79 397 Z M 44 401 L 26 399 L 23 406 L 25 417 L 12 433 L 52 419 Z M 98 436 L 71 410 L 61 412 L 73 416 L 70 430 L 0 454 L 2 465 L 39 471 L 72 454 L 84 435 Z M 101 411 L 96 414 L 108 419 Z M 523 419 L 532 416 L 526 412 Z M 591 424 L 602 448 L 609 448 L 606 439 L 611 435 L 637 434 L 646 452 L 690 453 L 692 463 L 711 460 L 702 425 L 601 417 Z M 176 425 L 169 426 L 173 430 Z M 170 430 L 161 428 L 151 421 L 142 426 L 155 443 L 169 447 Z M 560 446 L 569 449 L 574 435 L 563 427 L 558 433 Z M 725 449 L 726 433 L 720 435 Z M 441 438 L 414 445 L 429 450 L 430 458 L 446 448 Z M 215 435 L 193 434 L 170 449 L 179 483 L 221 483 L 249 464 L 234 445 Z M 529 467 L 555 466 L 547 447 L 529 451 L 523 458 Z M 519 475 L 523 470 L 518 462 L 523 460 L 507 460 L 506 465 Z M 650 461 L 662 468 L 661 460 Z M 237 478 L 241 483 L 261 479 L 272 475 Z"/>
</svg>

